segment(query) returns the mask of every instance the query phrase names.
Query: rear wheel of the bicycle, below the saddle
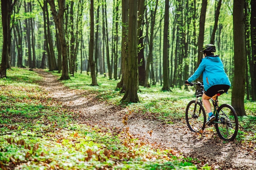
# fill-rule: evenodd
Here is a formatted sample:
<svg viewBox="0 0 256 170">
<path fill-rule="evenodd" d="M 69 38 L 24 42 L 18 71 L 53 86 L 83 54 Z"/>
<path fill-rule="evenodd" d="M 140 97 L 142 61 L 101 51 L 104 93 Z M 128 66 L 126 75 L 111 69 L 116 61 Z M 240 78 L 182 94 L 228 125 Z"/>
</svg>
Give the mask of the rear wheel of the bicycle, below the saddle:
<svg viewBox="0 0 256 170">
<path fill-rule="evenodd" d="M 226 141 L 232 141 L 238 133 L 238 118 L 235 109 L 228 104 L 218 108 L 219 123 L 215 124 L 219 137 Z"/>
</svg>

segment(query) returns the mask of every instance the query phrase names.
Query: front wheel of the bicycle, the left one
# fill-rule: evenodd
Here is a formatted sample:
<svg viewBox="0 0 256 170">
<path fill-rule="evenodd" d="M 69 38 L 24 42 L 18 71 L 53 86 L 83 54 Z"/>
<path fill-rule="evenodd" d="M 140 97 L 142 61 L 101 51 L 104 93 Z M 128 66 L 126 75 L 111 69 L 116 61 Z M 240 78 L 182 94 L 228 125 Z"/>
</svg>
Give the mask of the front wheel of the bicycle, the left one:
<svg viewBox="0 0 256 170">
<path fill-rule="evenodd" d="M 202 132 L 205 128 L 206 115 L 200 102 L 192 100 L 186 107 L 186 124 L 192 132 Z"/>
</svg>

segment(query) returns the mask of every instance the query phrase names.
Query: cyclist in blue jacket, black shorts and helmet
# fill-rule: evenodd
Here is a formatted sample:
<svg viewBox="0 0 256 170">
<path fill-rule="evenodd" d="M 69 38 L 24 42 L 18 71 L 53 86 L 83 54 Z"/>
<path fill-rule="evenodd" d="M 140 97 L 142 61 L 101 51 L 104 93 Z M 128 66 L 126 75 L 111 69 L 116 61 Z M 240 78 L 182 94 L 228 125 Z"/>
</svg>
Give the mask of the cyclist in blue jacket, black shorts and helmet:
<svg viewBox="0 0 256 170">
<path fill-rule="evenodd" d="M 203 46 L 203 58 L 194 74 L 185 81 L 189 85 L 195 81 L 201 74 L 203 74 L 204 94 L 202 95 L 202 102 L 209 115 L 207 124 L 216 119 L 211 111 L 210 99 L 216 100 L 217 93 L 227 93 L 231 83 L 227 74 L 225 73 L 223 63 L 218 55 L 214 55 L 216 47 L 213 44 Z"/>
</svg>

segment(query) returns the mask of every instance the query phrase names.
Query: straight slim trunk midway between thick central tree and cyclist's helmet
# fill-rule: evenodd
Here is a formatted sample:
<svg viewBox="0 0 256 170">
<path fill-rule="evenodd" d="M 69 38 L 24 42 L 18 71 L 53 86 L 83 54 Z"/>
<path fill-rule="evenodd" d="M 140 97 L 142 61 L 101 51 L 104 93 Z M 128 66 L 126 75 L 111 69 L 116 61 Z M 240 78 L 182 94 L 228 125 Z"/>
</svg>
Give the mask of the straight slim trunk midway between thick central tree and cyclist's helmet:
<svg viewBox="0 0 256 170">
<path fill-rule="evenodd" d="M 162 91 L 170 91 L 169 86 L 169 0 L 165 0 L 165 10 L 164 10 L 164 39 L 163 39 L 163 87 Z"/>
</svg>

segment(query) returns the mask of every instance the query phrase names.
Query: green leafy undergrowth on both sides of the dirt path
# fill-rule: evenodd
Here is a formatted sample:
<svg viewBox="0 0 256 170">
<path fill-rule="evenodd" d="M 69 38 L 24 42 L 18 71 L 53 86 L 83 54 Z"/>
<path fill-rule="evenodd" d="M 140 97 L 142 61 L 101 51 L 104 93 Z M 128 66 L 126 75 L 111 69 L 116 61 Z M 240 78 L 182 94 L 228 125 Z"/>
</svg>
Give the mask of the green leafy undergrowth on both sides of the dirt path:
<svg viewBox="0 0 256 170">
<path fill-rule="evenodd" d="M 161 92 L 157 84 L 140 86 L 140 102 L 124 105 L 120 102 L 123 94 L 116 90 L 119 81 L 98 75 L 99 86 L 90 86 L 87 74 L 70 78 L 62 82 L 71 89 L 173 125 L 186 124 L 186 105 L 194 99 L 192 87 Z M 18 68 L 7 70 L 7 78 L 0 79 L 0 169 L 210 169 L 174 150 L 160 150 L 133 138 L 128 131 L 113 134 L 108 128 L 79 124 L 72 111 L 40 89 L 41 79 L 35 72 Z M 222 103 L 231 104 L 231 90 L 220 96 Z M 255 107 L 256 102 L 245 100 L 247 116 L 239 117 L 235 141 L 249 145 L 252 152 L 256 149 Z"/>
</svg>

